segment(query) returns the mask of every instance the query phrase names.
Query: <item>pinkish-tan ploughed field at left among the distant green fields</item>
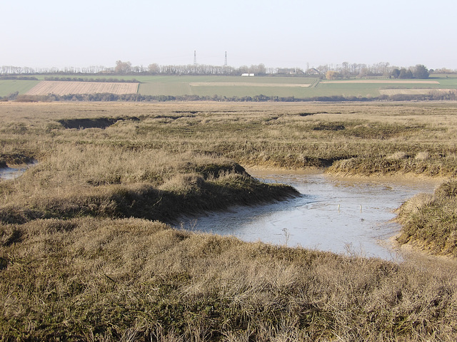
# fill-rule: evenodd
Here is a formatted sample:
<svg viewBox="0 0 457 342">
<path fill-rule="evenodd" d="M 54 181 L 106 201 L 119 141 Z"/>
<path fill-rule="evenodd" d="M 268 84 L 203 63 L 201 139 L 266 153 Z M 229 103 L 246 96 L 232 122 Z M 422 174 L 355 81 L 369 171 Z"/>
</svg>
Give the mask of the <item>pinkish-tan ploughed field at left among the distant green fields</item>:
<svg viewBox="0 0 457 342">
<path fill-rule="evenodd" d="M 68 95 L 68 94 L 96 94 L 111 93 L 116 95 L 132 94 L 138 90 L 138 83 L 114 82 L 69 82 L 69 81 L 41 81 L 31 88 L 26 95 Z"/>
</svg>

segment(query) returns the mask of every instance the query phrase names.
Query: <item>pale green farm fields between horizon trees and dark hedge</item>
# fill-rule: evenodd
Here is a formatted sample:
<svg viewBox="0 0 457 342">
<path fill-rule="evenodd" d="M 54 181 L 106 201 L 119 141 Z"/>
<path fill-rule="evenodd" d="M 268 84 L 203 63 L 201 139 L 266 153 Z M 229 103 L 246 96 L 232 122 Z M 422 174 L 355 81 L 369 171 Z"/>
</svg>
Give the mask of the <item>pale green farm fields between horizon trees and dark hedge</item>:
<svg viewBox="0 0 457 342">
<path fill-rule="evenodd" d="M 35 76 L 40 81 L 49 76 Z M 64 77 L 64 76 L 56 76 Z M 71 77 L 71 76 L 70 76 Z M 73 78 L 73 77 L 71 77 Z M 141 75 L 113 75 L 113 76 L 76 76 L 86 80 L 97 78 L 133 80 L 140 82 L 141 95 L 199 95 L 199 96 L 226 96 L 228 98 L 243 96 L 279 96 L 295 98 L 313 98 L 318 96 L 346 96 L 346 97 L 377 97 L 380 90 L 414 89 L 423 93 L 428 90 L 457 89 L 457 76 L 433 75 L 426 81 L 437 83 L 423 83 L 424 80 L 388 80 L 386 78 L 373 78 L 363 80 L 338 80 L 327 81 L 318 78 L 280 77 L 280 76 L 141 76 Z M 351 83 L 348 83 L 351 81 Z M 411 83 L 403 83 L 403 82 Z M 24 94 L 39 81 L 0 81 L 0 96 L 7 96 L 19 91 Z M 395 92 L 393 92 L 395 93 Z"/>
</svg>

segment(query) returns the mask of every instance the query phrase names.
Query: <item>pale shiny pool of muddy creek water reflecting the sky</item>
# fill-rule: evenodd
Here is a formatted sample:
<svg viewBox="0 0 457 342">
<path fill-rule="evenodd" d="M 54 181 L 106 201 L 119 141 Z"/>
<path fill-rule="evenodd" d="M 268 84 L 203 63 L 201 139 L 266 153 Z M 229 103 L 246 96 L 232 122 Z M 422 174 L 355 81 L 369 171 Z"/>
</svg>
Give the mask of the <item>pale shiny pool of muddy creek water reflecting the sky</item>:
<svg viewBox="0 0 457 342">
<path fill-rule="evenodd" d="M 266 182 L 293 185 L 301 197 L 255 207 L 233 207 L 187 218 L 181 227 L 233 235 L 244 241 L 287 244 L 366 257 L 399 259 L 388 239 L 400 227 L 393 210 L 433 184 L 353 182 L 317 175 L 256 175 Z"/>
</svg>

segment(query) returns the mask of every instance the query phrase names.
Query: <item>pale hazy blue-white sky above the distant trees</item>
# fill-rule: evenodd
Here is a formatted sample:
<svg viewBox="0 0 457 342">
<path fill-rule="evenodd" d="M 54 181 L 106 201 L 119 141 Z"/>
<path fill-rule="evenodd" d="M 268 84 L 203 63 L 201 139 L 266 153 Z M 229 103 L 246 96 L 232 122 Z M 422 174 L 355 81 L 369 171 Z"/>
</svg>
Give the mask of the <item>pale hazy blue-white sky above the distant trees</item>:
<svg viewBox="0 0 457 342">
<path fill-rule="evenodd" d="M 0 1 L 0 66 L 457 69 L 456 0 Z"/>
</svg>

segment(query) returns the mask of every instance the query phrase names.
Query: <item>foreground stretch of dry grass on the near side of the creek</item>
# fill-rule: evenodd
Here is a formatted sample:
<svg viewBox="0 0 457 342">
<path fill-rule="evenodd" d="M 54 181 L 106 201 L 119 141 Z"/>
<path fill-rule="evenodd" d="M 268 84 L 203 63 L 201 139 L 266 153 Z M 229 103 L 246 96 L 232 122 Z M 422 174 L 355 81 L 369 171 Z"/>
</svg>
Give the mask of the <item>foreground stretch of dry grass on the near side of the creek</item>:
<svg viewBox="0 0 457 342">
<path fill-rule="evenodd" d="M 0 229 L 0 331 L 9 340 L 457 337 L 455 274 L 143 219 L 39 219 Z"/>
</svg>

